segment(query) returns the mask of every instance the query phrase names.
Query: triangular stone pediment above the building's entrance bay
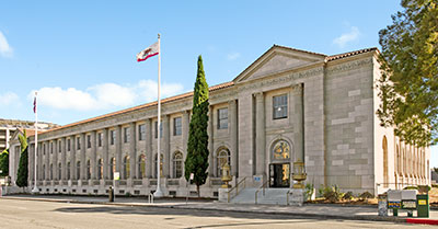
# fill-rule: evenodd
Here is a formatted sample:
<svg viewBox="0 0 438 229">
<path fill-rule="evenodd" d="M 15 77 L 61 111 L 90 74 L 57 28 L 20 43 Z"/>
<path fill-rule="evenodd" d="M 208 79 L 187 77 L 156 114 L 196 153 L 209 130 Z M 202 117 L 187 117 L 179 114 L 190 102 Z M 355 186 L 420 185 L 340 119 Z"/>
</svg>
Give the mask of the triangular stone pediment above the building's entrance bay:
<svg viewBox="0 0 438 229">
<path fill-rule="evenodd" d="M 315 62 L 324 61 L 325 55 L 274 45 L 233 81 L 251 81 Z"/>
</svg>

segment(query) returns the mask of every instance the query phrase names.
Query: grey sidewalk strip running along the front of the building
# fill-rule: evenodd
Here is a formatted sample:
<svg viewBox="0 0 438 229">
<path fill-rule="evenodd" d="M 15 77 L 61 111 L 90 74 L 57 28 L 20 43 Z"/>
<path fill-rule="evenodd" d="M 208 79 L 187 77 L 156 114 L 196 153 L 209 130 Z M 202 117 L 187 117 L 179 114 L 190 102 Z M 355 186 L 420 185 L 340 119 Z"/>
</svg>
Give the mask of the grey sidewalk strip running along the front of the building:
<svg viewBox="0 0 438 229">
<path fill-rule="evenodd" d="M 430 210 L 430 218 L 407 218 L 406 213 L 399 213 L 399 217 L 380 217 L 377 215 L 377 207 L 373 206 L 336 206 L 336 205 L 304 205 L 276 206 L 276 205 L 253 205 L 253 204 L 226 204 L 216 201 L 189 199 L 187 203 L 181 198 L 160 198 L 153 204 L 148 203 L 146 197 L 116 197 L 114 203 L 108 203 L 103 196 L 50 196 L 50 195 L 11 195 L 3 196 L 7 199 L 43 201 L 78 204 L 103 204 L 118 206 L 142 206 L 161 207 L 174 209 L 199 209 L 233 213 L 256 213 L 256 214 L 281 214 L 296 217 L 312 217 L 324 219 L 348 219 L 348 220 L 371 220 L 371 221 L 394 221 L 408 224 L 438 225 L 438 211 Z M 416 216 L 416 213 L 414 213 Z"/>
</svg>

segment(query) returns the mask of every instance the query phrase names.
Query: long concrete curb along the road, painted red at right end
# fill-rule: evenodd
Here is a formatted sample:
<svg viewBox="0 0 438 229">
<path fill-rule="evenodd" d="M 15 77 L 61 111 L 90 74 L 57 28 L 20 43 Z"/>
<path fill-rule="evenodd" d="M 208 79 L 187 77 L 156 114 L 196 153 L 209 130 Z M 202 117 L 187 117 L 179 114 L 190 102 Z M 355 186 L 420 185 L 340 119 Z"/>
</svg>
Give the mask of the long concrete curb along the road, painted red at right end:
<svg viewBox="0 0 438 229">
<path fill-rule="evenodd" d="M 74 204 L 99 204 L 99 205 L 113 205 L 113 206 L 128 206 L 128 207 L 151 207 L 151 208 L 173 208 L 173 209 L 188 209 L 188 210 L 215 210 L 222 213 L 249 213 L 249 214 L 272 214 L 272 215 L 284 215 L 306 218 L 321 218 L 321 219 L 344 219 L 344 220 L 366 220 L 366 221 L 392 221 L 403 224 L 427 224 L 438 225 L 436 219 L 416 219 L 405 217 L 391 217 L 391 216 L 341 216 L 341 215 L 327 215 L 327 214 L 311 214 L 311 213 L 285 213 L 275 210 L 256 210 L 256 209 L 224 209 L 224 208 L 209 208 L 189 205 L 157 205 L 157 204 L 132 204 L 132 203 L 110 203 L 110 202 L 95 202 L 95 201 L 77 201 L 77 199 L 50 199 L 50 198 L 32 198 L 32 197 L 8 197 L 2 196 L 5 199 L 19 199 L 19 201 L 37 201 L 37 202 L 53 202 L 53 203 L 74 203 Z"/>
</svg>

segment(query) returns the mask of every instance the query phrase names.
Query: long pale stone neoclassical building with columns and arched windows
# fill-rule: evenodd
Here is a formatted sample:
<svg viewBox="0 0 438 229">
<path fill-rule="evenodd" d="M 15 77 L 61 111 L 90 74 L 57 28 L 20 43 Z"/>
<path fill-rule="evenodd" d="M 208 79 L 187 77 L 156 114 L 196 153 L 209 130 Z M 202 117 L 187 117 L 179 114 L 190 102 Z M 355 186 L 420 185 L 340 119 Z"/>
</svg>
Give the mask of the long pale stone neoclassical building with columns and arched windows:
<svg viewBox="0 0 438 229">
<path fill-rule="evenodd" d="M 373 194 L 429 184 L 429 148 L 401 142 L 380 126 L 374 82 L 377 48 L 326 56 L 274 45 L 230 82 L 210 88 L 209 178 L 200 195 L 216 197 L 222 165 L 232 184 L 290 187 L 293 162 L 306 164 L 306 183 L 337 185 Z M 162 135 L 157 136 L 157 102 L 53 128 L 38 135 L 35 171 L 30 137 L 30 187 L 35 172 L 41 193 L 146 195 L 161 188 L 186 196 L 184 160 L 193 93 L 162 101 Z M 161 152 L 157 152 L 157 142 Z M 11 153 L 19 153 L 13 141 Z M 160 154 L 160 156 L 158 156 Z M 10 157 L 12 181 L 19 157 Z"/>
</svg>

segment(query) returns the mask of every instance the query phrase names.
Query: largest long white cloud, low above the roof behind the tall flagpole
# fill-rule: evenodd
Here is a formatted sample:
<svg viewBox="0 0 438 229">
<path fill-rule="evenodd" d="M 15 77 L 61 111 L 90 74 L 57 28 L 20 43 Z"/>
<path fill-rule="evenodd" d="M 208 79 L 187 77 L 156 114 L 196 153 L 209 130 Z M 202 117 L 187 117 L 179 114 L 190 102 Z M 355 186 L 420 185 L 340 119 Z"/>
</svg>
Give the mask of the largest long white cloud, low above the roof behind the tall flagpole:
<svg viewBox="0 0 438 229">
<path fill-rule="evenodd" d="M 178 83 L 162 83 L 161 96 L 175 95 L 183 91 Z M 34 91 L 28 94 L 33 99 Z M 135 85 L 102 83 L 84 91 L 69 88 L 42 88 L 38 90 L 38 104 L 55 110 L 96 111 L 110 107 L 124 107 L 157 100 L 157 82 L 141 80 Z"/>
</svg>

